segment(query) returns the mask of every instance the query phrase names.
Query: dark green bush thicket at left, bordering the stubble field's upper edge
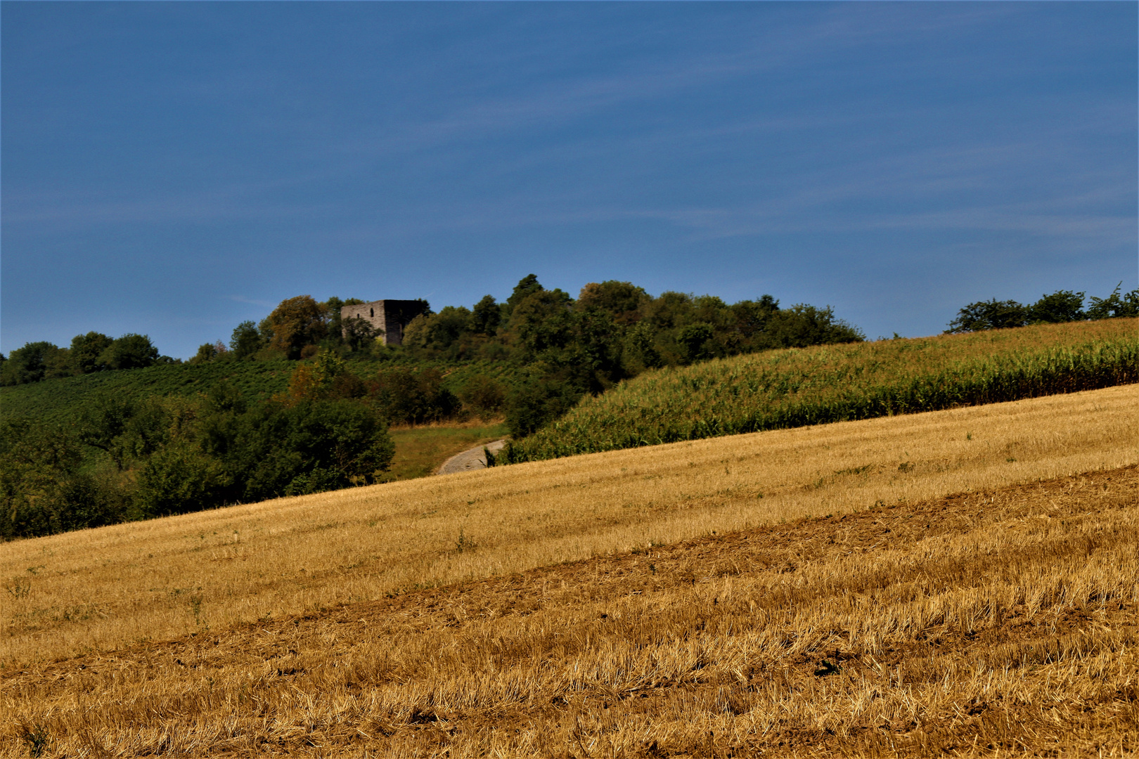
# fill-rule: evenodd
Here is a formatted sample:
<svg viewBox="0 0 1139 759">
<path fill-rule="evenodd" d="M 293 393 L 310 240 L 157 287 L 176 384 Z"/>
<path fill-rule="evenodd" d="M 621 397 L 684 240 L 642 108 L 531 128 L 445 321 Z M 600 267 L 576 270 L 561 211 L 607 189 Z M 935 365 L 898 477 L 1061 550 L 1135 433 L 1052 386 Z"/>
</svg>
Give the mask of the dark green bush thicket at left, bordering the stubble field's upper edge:
<svg viewBox="0 0 1139 759">
<path fill-rule="evenodd" d="M 100 394 L 58 427 L 0 423 L 0 536 L 370 482 L 393 454 L 384 415 L 357 399 L 248 405 L 224 383 L 198 399 Z"/>
</svg>

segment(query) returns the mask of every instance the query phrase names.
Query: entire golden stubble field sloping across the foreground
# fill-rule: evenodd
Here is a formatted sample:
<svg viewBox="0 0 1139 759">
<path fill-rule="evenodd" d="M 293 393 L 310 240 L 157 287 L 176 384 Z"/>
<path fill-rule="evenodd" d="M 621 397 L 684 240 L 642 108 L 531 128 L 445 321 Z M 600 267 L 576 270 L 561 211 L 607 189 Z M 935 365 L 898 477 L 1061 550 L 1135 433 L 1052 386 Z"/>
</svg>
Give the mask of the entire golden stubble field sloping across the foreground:
<svg viewBox="0 0 1139 759">
<path fill-rule="evenodd" d="M 7 544 L 0 753 L 1133 754 L 1137 427 L 1117 387 Z"/>
</svg>

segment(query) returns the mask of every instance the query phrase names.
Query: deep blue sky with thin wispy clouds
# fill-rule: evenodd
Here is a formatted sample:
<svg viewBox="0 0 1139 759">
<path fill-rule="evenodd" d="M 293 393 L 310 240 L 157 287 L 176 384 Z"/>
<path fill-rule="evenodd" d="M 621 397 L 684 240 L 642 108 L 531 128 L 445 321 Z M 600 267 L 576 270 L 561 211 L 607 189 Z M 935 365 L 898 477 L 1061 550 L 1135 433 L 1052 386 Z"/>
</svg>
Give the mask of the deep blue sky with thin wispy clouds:
<svg viewBox="0 0 1139 759">
<path fill-rule="evenodd" d="M 0 3 L 0 350 L 301 294 L 1137 287 L 1139 5 Z"/>
</svg>

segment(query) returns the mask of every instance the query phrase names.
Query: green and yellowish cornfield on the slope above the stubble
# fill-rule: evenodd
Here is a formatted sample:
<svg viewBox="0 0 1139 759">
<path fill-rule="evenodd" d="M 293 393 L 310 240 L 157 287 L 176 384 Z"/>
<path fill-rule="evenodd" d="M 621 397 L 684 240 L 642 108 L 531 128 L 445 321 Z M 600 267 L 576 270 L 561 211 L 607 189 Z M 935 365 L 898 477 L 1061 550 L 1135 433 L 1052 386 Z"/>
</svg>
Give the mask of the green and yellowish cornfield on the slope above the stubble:
<svg viewBox="0 0 1139 759">
<path fill-rule="evenodd" d="M 646 372 L 503 452 L 536 461 L 1139 381 L 1139 320 L 770 350 Z"/>
</svg>

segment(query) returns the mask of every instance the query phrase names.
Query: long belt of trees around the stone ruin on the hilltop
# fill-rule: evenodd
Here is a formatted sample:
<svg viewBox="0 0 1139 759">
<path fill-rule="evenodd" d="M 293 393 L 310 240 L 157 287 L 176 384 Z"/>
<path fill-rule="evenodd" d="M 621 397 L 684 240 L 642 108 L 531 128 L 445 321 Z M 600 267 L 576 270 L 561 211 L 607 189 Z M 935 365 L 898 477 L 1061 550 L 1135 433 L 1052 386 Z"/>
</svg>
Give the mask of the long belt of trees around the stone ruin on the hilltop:
<svg viewBox="0 0 1139 759">
<path fill-rule="evenodd" d="M 410 373 L 380 370 L 378 386 L 388 388 L 394 422 L 445 418 L 456 409 L 501 412 L 510 432 L 521 437 L 583 395 L 601 393 L 647 369 L 865 339 L 829 307 L 780 308 L 771 296 L 727 304 L 715 296 L 682 292 L 653 297 L 630 282 L 607 281 L 587 284 L 575 299 L 560 289 L 546 289 L 528 274 L 503 303 L 487 295 L 470 308 L 445 306 L 436 313 L 421 302 L 421 313 L 407 325 L 396 348 L 384 345 L 368 321 L 341 320 L 342 306 L 359 303 L 289 298 L 260 324 L 238 325 L 228 347 L 203 345 L 191 361 L 305 358 L 335 352 L 350 360 L 401 357 L 423 365 L 509 362 L 521 370 L 517 381 L 503 386 L 476 376 L 458 389 L 458 397 L 426 368 Z M 410 406 L 417 411 L 400 411 Z"/>
</svg>

